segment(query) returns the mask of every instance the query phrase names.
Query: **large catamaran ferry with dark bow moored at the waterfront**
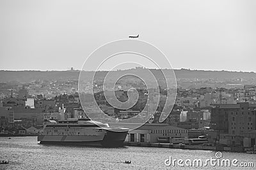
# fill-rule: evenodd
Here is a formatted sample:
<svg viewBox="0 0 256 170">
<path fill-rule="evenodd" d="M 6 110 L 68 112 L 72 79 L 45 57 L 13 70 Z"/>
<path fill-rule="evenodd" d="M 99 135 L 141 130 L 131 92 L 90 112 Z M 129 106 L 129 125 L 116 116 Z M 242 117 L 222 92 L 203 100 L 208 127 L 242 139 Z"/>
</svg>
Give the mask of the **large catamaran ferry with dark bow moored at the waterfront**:
<svg viewBox="0 0 256 170">
<path fill-rule="evenodd" d="M 124 145 L 129 129 L 109 127 L 88 118 L 78 120 L 48 120 L 38 135 L 41 144 L 88 145 L 116 147 Z"/>
</svg>

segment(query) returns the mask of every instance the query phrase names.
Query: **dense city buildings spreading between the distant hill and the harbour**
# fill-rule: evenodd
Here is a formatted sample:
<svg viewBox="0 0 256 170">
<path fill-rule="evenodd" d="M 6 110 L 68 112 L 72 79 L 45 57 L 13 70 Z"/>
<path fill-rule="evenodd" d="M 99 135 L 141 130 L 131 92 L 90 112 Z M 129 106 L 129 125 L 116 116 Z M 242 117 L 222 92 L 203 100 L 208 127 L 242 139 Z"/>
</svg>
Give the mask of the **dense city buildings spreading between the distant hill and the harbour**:
<svg viewBox="0 0 256 170">
<path fill-rule="evenodd" d="M 58 84 L 58 85 L 57 85 Z M 93 96 L 84 93 L 84 101 L 79 100 L 77 81 L 49 82 L 36 81 L 26 86 L 17 86 L 9 90 L 9 94 L 1 93 L 0 128 L 19 134 L 37 134 L 42 131 L 46 120 L 61 120 L 84 117 L 88 113 L 104 111 L 113 118 L 126 119 L 136 115 L 151 113 L 152 104 L 159 99 L 159 106 L 147 124 L 130 131 L 127 140 L 138 143 L 170 142 L 173 139 L 198 138 L 205 136 L 207 142 L 214 146 L 240 146 L 252 148 L 255 145 L 256 134 L 256 86 L 244 85 L 243 88 L 212 88 L 177 89 L 175 104 L 170 113 L 162 111 L 166 100 L 166 90 L 160 89 L 161 94 L 152 103 L 146 104 L 148 91 L 140 84 L 137 89 L 138 101 L 129 110 L 120 110 L 111 106 L 106 97 L 111 92 L 102 93 L 96 90 Z M 51 87 L 51 88 L 50 88 Z M 67 93 L 67 89 L 68 93 Z M 99 85 L 100 87 L 100 85 Z M 94 87 L 99 89 L 99 87 Z M 125 87 L 125 88 L 124 88 Z M 42 90 L 51 89 L 52 94 L 44 94 Z M 74 88 L 74 89 L 72 89 Z M 130 85 L 119 83 L 115 96 L 121 102 L 134 99 L 136 93 L 128 94 Z M 154 90 L 153 90 L 154 91 Z M 157 92 L 156 92 L 157 94 Z M 86 110 L 83 110 L 81 103 Z M 145 108 L 145 109 L 144 109 Z M 141 113 L 141 111 L 143 113 Z M 162 118 L 161 115 L 167 118 Z M 108 118 L 102 117 L 108 122 Z"/>
</svg>

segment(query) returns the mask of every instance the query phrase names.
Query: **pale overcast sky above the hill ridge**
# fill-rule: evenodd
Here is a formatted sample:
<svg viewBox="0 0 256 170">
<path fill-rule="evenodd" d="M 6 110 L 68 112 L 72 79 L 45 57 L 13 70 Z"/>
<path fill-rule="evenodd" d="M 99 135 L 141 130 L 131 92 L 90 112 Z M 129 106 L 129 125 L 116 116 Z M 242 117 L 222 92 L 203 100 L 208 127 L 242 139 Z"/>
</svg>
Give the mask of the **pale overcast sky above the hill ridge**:
<svg viewBox="0 0 256 170">
<path fill-rule="evenodd" d="M 140 34 L 175 69 L 256 72 L 255 9 L 254 0 L 1 0 L 0 69 L 81 69 L 99 46 Z"/>
</svg>

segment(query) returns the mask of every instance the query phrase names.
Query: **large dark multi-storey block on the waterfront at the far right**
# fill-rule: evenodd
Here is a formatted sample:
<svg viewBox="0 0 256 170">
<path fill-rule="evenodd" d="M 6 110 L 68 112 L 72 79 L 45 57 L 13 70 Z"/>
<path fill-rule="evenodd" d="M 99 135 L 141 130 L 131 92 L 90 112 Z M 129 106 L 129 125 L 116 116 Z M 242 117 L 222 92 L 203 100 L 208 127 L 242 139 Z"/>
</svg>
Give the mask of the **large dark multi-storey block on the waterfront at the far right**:
<svg viewBox="0 0 256 170">
<path fill-rule="evenodd" d="M 226 136 L 225 139 L 230 140 L 231 145 L 243 146 L 244 135 L 256 129 L 255 116 L 256 105 L 214 104 L 211 110 L 211 129 L 218 132 L 216 141 L 221 142 Z"/>
</svg>

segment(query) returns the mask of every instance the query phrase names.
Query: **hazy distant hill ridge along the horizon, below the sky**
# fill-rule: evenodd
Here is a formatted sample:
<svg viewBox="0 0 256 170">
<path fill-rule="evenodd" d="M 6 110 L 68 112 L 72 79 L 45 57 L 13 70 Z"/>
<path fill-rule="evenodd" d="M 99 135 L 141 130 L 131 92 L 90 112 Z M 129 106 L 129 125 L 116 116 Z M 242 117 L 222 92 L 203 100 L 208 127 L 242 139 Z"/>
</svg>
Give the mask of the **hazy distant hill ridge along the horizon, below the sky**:
<svg viewBox="0 0 256 170">
<path fill-rule="evenodd" d="M 140 71 L 140 69 L 138 69 Z M 118 73 L 120 71 L 116 71 Z M 159 70 L 152 69 L 157 75 Z M 189 69 L 175 69 L 177 78 L 188 79 L 214 79 L 214 80 L 230 80 L 233 78 L 243 78 L 244 80 L 256 79 L 256 73 L 253 72 L 236 72 L 236 71 L 203 71 Z M 28 83 L 35 80 L 78 80 L 79 71 L 0 71 L 0 82 L 18 81 L 20 83 Z M 93 74 L 93 71 L 86 71 L 86 74 Z M 104 76 L 107 71 L 100 71 Z"/>
</svg>

